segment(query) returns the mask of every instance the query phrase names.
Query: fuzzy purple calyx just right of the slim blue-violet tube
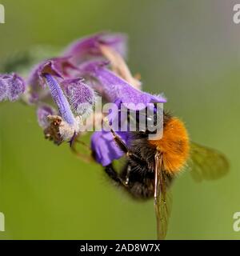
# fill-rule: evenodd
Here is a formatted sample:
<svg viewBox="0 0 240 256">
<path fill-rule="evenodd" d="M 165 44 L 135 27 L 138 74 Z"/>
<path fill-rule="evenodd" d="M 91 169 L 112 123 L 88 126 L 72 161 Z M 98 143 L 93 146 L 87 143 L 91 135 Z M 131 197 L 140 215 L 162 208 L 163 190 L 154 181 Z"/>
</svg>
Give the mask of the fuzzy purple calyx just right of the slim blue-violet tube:
<svg viewBox="0 0 240 256">
<path fill-rule="evenodd" d="M 93 110 L 95 93 L 87 86 L 82 78 L 68 79 L 62 82 L 62 86 L 69 98 L 70 106 L 76 114 L 88 115 Z"/>
</svg>

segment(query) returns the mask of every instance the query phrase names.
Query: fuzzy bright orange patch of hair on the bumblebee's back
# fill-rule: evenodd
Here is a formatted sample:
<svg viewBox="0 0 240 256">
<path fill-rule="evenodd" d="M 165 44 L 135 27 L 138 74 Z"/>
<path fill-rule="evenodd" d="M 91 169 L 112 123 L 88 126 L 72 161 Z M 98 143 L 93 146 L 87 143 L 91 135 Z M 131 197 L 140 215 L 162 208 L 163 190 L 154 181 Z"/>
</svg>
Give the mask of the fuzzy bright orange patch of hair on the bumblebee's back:
<svg viewBox="0 0 240 256">
<path fill-rule="evenodd" d="M 170 174 L 182 170 L 190 150 L 189 137 L 182 121 L 170 118 L 164 126 L 162 139 L 149 142 L 162 153 L 164 170 Z"/>
</svg>

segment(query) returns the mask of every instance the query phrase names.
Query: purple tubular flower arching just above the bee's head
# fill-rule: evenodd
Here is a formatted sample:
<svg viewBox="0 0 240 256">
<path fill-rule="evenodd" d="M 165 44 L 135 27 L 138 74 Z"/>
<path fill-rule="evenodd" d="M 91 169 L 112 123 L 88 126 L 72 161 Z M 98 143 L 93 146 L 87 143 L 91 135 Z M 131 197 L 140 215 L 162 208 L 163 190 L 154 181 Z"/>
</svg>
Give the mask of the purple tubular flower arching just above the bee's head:
<svg viewBox="0 0 240 256">
<path fill-rule="evenodd" d="M 106 62 L 86 62 L 79 66 L 79 70 L 81 75 L 98 80 L 98 83 L 94 82 L 94 89 L 104 94 L 110 102 L 121 102 L 134 110 L 142 110 L 149 103 L 166 102 L 166 98 L 161 95 L 154 96 L 130 86 L 128 82 L 108 70 Z"/>
</svg>

